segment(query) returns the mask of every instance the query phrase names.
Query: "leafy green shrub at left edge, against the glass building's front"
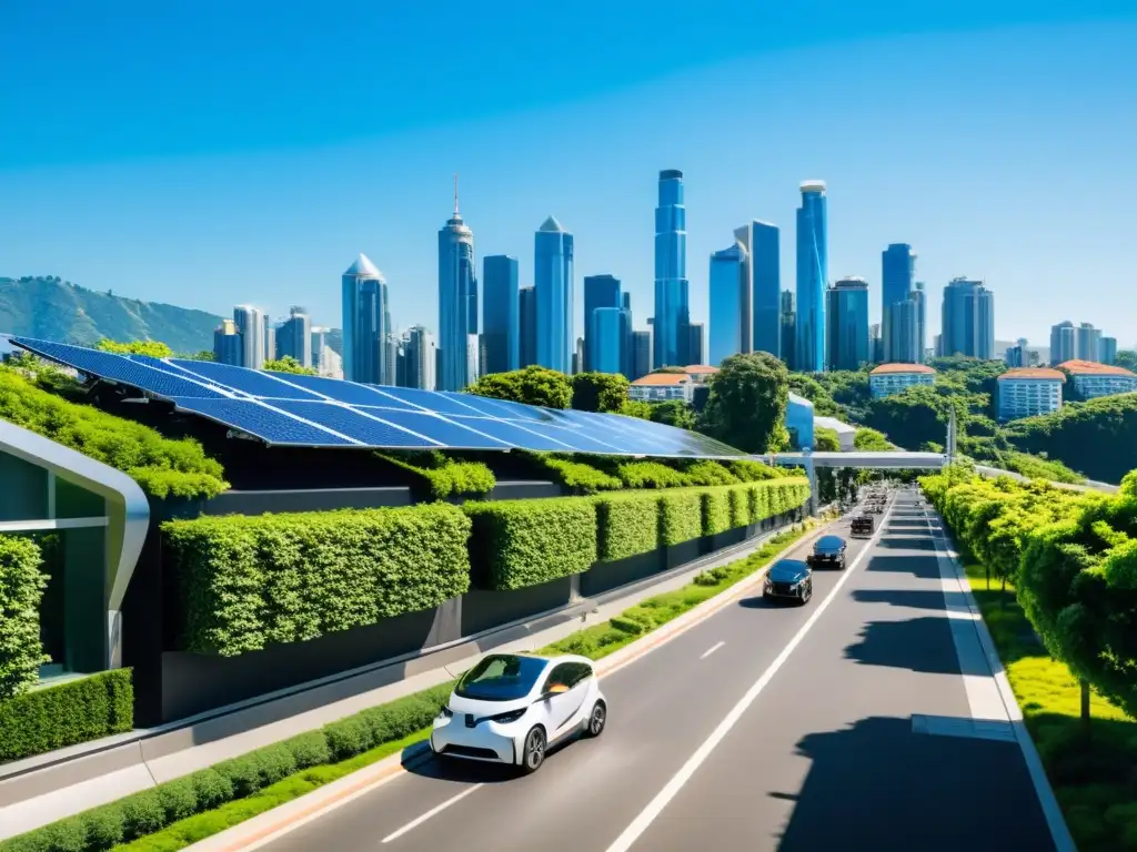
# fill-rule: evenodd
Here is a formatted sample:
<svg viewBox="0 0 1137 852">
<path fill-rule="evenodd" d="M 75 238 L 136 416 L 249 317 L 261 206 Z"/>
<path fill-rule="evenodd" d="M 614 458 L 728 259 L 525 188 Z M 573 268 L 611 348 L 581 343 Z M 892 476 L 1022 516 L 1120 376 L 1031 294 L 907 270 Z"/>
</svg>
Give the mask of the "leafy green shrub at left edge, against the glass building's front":
<svg viewBox="0 0 1137 852">
<path fill-rule="evenodd" d="M 34 686 L 49 659 L 40 641 L 40 599 L 48 585 L 41 561 L 32 541 L 0 535 L 0 701 Z"/>
</svg>

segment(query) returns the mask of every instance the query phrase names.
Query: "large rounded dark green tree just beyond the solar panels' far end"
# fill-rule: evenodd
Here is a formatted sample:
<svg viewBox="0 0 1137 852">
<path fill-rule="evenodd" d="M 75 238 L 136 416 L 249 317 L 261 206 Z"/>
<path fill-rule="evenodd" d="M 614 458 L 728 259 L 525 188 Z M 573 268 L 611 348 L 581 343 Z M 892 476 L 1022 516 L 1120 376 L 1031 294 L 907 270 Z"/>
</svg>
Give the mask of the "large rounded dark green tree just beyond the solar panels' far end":
<svg viewBox="0 0 1137 852">
<path fill-rule="evenodd" d="M 769 352 L 731 356 L 711 379 L 703 431 L 745 452 L 766 452 L 788 401 L 786 365 Z"/>
</svg>

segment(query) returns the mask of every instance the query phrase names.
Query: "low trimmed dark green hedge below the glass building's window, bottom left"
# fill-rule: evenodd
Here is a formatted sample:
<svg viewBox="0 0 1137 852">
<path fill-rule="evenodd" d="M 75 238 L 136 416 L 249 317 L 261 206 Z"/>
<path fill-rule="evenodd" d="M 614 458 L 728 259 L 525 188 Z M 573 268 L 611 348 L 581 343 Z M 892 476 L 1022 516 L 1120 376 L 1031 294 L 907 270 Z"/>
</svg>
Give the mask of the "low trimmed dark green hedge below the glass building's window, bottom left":
<svg viewBox="0 0 1137 852">
<path fill-rule="evenodd" d="M 134 726 L 130 669 L 103 671 L 0 701 L 0 763 Z"/>
</svg>

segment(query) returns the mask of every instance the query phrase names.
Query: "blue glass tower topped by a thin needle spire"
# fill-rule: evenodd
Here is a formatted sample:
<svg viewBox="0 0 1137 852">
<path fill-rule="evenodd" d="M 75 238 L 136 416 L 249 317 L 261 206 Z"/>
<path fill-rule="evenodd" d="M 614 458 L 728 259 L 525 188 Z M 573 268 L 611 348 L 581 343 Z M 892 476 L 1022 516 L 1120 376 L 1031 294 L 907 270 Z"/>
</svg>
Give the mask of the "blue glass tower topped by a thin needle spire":
<svg viewBox="0 0 1137 852">
<path fill-rule="evenodd" d="M 460 391 L 468 384 L 471 334 L 478 334 L 474 232 L 458 212 L 455 177 L 454 216 L 438 232 L 438 342 L 442 351 L 438 390 Z"/>
</svg>

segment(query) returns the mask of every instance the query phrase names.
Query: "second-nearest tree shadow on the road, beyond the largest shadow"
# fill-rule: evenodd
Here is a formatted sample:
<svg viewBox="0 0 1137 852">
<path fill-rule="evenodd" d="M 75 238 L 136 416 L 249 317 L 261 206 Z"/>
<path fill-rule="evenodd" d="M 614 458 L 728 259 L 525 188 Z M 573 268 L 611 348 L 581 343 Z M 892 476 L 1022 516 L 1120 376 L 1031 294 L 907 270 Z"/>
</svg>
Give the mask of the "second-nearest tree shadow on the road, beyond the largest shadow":
<svg viewBox="0 0 1137 852">
<path fill-rule="evenodd" d="M 969 661 L 968 671 L 961 668 L 945 616 L 869 621 L 861 629 L 861 641 L 845 649 L 845 659 L 932 675 L 990 675 L 984 658 Z"/>
</svg>

